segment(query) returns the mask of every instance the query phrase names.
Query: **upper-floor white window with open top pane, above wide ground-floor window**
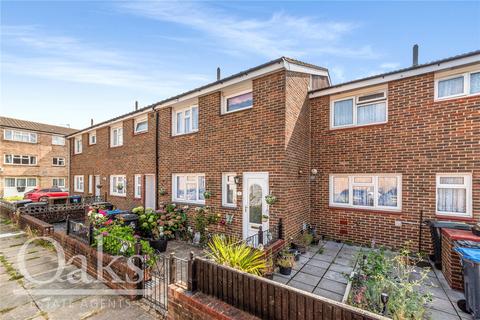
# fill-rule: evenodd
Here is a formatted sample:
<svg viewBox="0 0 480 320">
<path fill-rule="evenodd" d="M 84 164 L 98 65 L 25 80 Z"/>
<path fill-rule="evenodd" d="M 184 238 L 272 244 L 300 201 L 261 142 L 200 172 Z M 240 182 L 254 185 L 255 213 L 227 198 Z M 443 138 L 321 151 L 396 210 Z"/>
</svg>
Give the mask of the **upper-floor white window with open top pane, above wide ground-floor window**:
<svg viewBox="0 0 480 320">
<path fill-rule="evenodd" d="M 333 100 L 330 105 L 330 128 L 346 128 L 386 123 L 386 91 Z"/>
</svg>

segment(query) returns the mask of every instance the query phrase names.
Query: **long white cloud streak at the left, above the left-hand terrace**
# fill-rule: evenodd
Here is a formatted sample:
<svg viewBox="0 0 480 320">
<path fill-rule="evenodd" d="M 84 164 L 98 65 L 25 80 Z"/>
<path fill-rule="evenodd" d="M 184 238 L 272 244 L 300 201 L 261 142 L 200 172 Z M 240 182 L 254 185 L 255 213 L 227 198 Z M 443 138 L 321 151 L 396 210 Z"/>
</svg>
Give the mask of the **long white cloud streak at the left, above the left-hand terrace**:
<svg viewBox="0 0 480 320">
<path fill-rule="evenodd" d="M 158 70 L 145 57 L 46 34 L 33 26 L 4 26 L 2 72 L 171 95 L 208 79 L 200 74 Z M 142 64 L 138 61 L 141 60 Z"/>
</svg>

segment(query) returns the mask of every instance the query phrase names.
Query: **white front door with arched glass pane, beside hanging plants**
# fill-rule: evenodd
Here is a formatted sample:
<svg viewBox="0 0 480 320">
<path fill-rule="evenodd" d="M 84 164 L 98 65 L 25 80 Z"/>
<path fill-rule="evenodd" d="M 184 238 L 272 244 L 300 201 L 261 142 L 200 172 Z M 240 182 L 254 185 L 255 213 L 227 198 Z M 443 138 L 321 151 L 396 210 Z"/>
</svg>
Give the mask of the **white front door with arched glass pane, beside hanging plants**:
<svg viewBox="0 0 480 320">
<path fill-rule="evenodd" d="M 243 174 L 243 238 L 268 230 L 268 172 Z"/>
</svg>

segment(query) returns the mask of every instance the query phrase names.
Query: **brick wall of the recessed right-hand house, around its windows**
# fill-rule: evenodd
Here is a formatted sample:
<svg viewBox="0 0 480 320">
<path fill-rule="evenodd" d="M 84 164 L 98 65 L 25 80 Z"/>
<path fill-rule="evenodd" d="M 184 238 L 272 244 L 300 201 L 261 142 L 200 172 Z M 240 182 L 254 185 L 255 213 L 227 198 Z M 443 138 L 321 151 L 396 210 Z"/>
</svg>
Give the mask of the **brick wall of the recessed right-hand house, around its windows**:
<svg viewBox="0 0 480 320">
<path fill-rule="evenodd" d="M 388 84 L 388 123 L 329 130 L 330 98 L 311 100 L 312 221 L 340 240 L 418 247 L 420 211 L 435 218 L 436 173 L 473 174 L 473 199 L 480 198 L 480 97 L 434 102 L 433 73 Z M 334 173 L 402 174 L 402 212 L 387 213 L 329 207 L 328 178 Z M 473 201 L 474 218 L 480 202 Z M 395 227 L 395 220 L 403 222 Z M 430 234 L 424 228 L 424 247 Z"/>
</svg>

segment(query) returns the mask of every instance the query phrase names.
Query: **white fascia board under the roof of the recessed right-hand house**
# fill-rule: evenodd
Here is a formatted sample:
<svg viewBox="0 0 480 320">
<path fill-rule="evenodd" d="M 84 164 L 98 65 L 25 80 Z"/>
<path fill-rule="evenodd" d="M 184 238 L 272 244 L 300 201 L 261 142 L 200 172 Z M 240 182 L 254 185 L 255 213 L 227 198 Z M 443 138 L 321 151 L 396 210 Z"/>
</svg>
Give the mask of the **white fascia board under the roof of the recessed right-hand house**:
<svg viewBox="0 0 480 320">
<path fill-rule="evenodd" d="M 316 92 L 312 92 L 309 94 L 309 98 L 316 98 L 316 97 L 322 97 L 322 96 L 328 96 L 331 94 L 336 94 L 340 92 L 345 92 L 345 91 L 350 91 L 350 90 L 355 90 L 363 87 L 369 87 L 369 86 L 374 86 L 377 84 L 382 84 L 385 82 L 390 82 L 390 81 L 395 81 L 395 80 L 400 80 L 408 77 L 413 77 L 413 76 L 418 76 L 421 74 L 425 73 L 430 73 L 430 72 L 436 72 L 436 71 L 441 71 L 449 68 L 455 68 L 455 67 L 460 67 L 463 65 L 468 65 L 472 63 L 478 63 L 480 62 L 480 54 L 476 54 L 470 57 L 465 57 L 465 58 L 460 58 L 457 60 L 450 60 L 450 61 L 445 61 L 433 65 L 428 65 L 425 67 L 420 67 L 418 69 L 414 70 L 408 70 L 404 72 L 398 72 L 398 73 L 393 73 L 385 76 L 379 76 L 376 78 L 372 79 L 366 79 L 364 81 L 358 81 L 354 83 L 347 83 L 345 85 L 341 85 L 339 87 L 334 87 L 330 89 L 324 89 Z"/>
</svg>

